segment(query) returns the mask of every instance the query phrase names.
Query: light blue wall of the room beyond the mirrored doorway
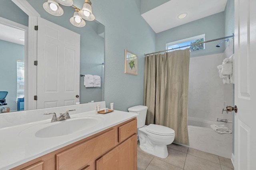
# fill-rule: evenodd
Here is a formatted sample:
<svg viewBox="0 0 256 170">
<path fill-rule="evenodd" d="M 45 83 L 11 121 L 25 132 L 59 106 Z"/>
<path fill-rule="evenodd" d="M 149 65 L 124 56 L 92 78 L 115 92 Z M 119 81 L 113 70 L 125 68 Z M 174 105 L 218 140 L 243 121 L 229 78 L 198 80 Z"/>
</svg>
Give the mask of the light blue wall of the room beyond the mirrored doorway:
<svg viewBox="0 0 256 170">
<path fill-rule="evenodd" d="M 17 60 L 24 61 L 25 48 L 24 45 L 0 40 L 0 51 L 0 91 L 8 92 L 6 96 L 7 105 L 4 107 L 17 110 Z"/>
</svg>

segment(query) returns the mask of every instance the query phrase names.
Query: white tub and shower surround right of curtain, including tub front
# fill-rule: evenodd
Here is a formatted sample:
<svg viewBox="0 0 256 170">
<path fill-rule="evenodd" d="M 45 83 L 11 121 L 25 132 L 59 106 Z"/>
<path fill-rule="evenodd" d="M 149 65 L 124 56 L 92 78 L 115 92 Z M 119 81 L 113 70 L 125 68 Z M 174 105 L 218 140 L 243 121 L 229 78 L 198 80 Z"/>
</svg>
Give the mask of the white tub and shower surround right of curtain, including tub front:
<svg viewBox="0 0 256 170">
<path fill-rule="evenodd" d="M 225 105 L 234 105 L 234 85 L 223 84 L 217 65 L 222 64 L 233 52 L 230 40 L 226 51 L 220 54 L 190 58 L 188 88 L 188 147 L 226 158 L 232 154 L 232 134 L 219 134 L 210 128 L 211 124 L 225 124 L 233 129 L 232 113 L 224 112 Z M 216 119 L 228 119 L 229 123 Z"/>
</svg>

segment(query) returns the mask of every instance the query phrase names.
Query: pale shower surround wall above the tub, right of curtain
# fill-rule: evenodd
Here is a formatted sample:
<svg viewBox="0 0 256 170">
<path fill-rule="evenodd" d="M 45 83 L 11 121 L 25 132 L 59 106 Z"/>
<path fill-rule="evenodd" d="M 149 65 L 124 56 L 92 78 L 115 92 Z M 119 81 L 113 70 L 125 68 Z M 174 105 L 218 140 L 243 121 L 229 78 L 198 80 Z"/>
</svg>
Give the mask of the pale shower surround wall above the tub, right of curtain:
<svg viewBox="0 0 256 170">
<path fill-rule="evenodd" d="M 188 117 L 232 121 L 232 113 L 222 114 L 222 109 L 225 105 L 233 106 L 233 84 L 223 84 L 216 67 L 232 55 L 232 44 L 233 41 L 224 53 L 190 58 Z"/>
</svg>

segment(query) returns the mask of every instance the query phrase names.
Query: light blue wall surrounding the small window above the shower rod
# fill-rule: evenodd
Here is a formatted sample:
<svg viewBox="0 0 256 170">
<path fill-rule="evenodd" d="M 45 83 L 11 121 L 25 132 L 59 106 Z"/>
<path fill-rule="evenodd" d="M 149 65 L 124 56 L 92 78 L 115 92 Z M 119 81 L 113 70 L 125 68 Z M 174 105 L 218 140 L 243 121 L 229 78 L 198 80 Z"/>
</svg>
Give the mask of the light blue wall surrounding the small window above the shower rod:
<svg viewBox="0 0 256 170">
<path fill-rule="evenodd" d="M 156 34 L 156 51 L 165 50 L 166 43 L 205 34 L 205 41 L 225 37 L 224 12 L 192 21 Z M 230 34 L 231 35 L 231 34 Z M 223 53 L 224 45 L 215 47 L 219 41 L 205 43 L 205 49 L 192 51 L 190 57 Z"/>
</svg>

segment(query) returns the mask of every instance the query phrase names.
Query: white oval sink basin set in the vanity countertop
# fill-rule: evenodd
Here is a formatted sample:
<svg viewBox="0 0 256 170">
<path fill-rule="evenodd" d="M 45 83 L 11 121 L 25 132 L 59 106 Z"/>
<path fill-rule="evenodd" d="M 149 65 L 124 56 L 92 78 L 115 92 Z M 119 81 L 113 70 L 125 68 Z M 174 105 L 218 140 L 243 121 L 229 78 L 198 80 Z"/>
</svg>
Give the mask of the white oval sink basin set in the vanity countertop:
<svg viewBox="0 0 256 170">
<path fill-rule="evenodd" d="M 58 122 L 47 122 L 34 125 L 21 131 L 19 136 L 33 135 L 38 138 L 49 138 L 59 137 L 63 135 L 70 135 L 86 129 L 91 129 L 99 126 L 104 121 L 104 117 L 98 116 L 87 116 L 87 117 L 74 117 L 71 119 L 58 121 Z"/>
</svg>

